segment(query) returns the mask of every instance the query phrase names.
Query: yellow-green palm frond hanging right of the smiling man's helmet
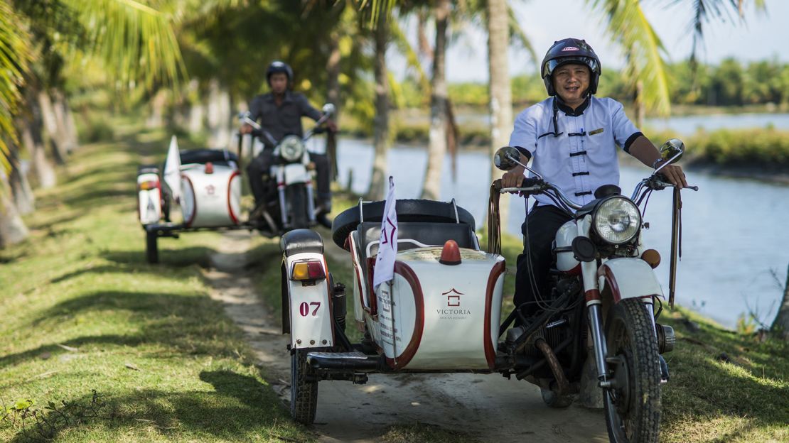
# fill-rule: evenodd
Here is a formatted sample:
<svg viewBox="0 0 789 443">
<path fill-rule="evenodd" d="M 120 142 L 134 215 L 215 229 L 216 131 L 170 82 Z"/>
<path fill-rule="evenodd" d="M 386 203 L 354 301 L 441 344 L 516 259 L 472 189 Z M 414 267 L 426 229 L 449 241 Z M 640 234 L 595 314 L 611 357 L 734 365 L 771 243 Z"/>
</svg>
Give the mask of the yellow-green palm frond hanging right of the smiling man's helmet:
<svg viewBox="0 0 789 443">
<path fill-rule="evenodd" d="M 666 49 L 649 23 L 638 0 L 587 0 L 604 13 L 606 30 L 626 56 L 625 77 L 634 87 L 644 85 L 642 102 L 660 115 L 671 112 Z"/>
</svg>

